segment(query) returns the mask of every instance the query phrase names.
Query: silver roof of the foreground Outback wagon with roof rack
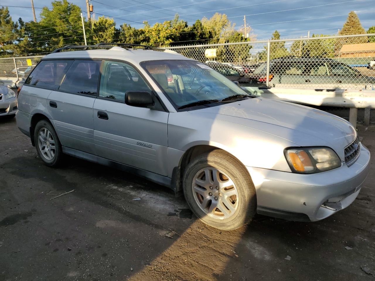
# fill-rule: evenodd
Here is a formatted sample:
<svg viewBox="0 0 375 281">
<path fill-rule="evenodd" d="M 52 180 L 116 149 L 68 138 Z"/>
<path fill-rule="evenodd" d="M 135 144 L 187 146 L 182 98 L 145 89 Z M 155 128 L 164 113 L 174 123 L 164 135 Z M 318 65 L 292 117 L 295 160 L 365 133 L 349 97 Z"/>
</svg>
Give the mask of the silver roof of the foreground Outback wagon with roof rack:
<svg viewBox="0 0 375 281">
<path fill-rule="evenodd" d="M 192 60 L 171 50 L 155 51 L 145 49 L 124 49 L 114 46 L 111 49 L 91 49 L 81 51 L 55 52 L 43 57 L 43 60 L 63 58 L 104 58 L 113 60 L 125 60 L 133 64 L 149 60 Z"/>
</svg>

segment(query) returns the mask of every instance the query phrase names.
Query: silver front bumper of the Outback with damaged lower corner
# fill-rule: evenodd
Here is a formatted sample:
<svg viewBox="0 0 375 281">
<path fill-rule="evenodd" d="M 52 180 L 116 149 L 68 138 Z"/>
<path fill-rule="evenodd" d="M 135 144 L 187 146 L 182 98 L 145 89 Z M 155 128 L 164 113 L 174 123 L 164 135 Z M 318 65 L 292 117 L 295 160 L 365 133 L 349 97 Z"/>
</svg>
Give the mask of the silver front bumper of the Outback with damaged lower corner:
<svg viewBox="0 0 375 281">
<path fill-rule="evenodd" d="M 303 175 L 247 167 L 257 192 L 257 211 L 296 221 L 318 221 L 349 206 L 369 172 L 370 152 L 361 143 L 349 167 Z"/>
</svg>

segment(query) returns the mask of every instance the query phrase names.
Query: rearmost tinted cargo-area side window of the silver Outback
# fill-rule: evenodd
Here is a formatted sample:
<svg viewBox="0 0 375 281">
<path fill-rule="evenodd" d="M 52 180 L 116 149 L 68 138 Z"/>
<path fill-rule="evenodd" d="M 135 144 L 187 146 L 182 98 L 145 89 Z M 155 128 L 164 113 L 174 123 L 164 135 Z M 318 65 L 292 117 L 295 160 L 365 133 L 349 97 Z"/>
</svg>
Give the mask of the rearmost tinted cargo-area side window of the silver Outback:
<svg viewBox="0 0 375 281">
<path fill-rule="evenodd" d="M 43 60 L 31 72 L 25 84 L 56 90 L 72 62 L 71 60 Z"/>
</svg>

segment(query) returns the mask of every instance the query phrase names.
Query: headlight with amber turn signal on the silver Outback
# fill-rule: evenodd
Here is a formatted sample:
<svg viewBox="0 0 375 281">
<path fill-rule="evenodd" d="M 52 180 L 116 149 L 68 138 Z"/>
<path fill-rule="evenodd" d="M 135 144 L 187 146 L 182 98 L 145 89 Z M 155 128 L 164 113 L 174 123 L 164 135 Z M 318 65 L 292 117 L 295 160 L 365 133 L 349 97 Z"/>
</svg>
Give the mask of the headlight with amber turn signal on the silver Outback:
<svg viewBox="0 0 375 281">
<path fill-rule="evenodd" d="M 295 173 L 319 173 L 341 166 L 338 155 L 328 147 L 288 148 L 284 153 Z"/>
</svg>

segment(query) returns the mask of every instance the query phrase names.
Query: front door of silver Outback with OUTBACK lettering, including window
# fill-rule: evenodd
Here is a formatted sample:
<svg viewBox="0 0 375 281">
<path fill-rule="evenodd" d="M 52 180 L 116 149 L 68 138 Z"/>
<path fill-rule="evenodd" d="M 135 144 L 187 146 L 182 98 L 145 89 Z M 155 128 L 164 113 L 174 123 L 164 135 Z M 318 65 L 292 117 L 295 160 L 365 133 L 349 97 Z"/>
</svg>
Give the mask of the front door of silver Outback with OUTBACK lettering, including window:
<svg viewBox="0 0 375 281">
<path fill-rule="evenodd" d="M 132 167 L 167 175 L 168 146 L 165 112 L 155 105 L 139 108 L 125 104 L 128 90 L 151 92 L 130 64 L 105 61 L 94 103 L 94 141 L 97 155 Z"/>
</svg>

